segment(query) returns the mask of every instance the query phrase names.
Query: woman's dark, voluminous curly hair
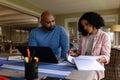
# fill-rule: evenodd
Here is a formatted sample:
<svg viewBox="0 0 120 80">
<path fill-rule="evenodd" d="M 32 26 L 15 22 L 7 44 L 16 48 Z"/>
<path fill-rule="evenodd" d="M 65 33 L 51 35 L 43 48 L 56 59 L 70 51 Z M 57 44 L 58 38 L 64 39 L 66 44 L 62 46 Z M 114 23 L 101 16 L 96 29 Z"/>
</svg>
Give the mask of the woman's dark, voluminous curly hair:
<svg viewBox="0 0 120 80">
<path fill-rule="evenodd" d="M 100 14 L 96 12 L 86 12 L 81 16 L 78 22 L 78 31 L 81 32 L 83 36 L 86 36 L 88 33 L 86 30 L 84 30 L 81 21 L 82 20 L 87 20 L 90 25 L 93 25 L 96 29 L 99 29 L 103 27 L 104 24 L 104 19 L 101 17 Z"/>
</svg>

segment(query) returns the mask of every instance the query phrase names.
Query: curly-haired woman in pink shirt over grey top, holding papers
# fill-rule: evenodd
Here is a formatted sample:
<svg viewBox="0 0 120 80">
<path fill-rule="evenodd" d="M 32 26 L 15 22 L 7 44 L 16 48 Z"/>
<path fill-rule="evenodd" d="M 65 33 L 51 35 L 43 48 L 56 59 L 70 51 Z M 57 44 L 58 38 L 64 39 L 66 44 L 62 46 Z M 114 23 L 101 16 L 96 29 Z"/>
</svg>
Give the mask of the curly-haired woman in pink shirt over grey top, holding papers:
<svg viewBox="0 0 120 80">
<path fill-rule="evenodd" d="M 95 12 L 87 12 L 81 16 L 78 29 L 81 33 L 79 49 L 77 53 L 69 51 L 74 57 L 80 55 L 100 56 L 97 59 L 102 65 L 110 60 L 111 41 L 109 36 L 101 30 L 104 26 L 103 18 Z M 97 80 L 104 78 L 104 71 L 98 71 Z"/>
</svg>

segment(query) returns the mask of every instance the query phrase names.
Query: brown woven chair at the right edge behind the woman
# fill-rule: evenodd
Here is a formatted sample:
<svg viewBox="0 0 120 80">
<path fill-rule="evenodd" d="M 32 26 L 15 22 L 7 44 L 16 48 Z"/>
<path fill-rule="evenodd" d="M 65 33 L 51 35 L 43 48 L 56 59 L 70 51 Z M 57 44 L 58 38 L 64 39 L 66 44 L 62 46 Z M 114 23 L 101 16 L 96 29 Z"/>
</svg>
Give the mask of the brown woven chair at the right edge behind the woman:
<svg viewBox="0 0 120 80">
<path fill-rule="evenodd" d="M 105 65 L 105 69 L 103 80 L 120 80 L 120 50 L 111 49 L 110 63 Z"/>
</svg>

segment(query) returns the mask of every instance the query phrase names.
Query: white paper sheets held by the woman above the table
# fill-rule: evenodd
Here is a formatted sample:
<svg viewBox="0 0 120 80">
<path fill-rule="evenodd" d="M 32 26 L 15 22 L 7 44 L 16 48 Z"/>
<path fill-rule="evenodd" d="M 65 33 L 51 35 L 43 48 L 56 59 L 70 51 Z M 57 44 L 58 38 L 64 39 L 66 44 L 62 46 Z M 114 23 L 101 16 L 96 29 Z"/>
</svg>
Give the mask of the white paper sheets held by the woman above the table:
<svg viewBox="0 0 120 80">
<path fill-rule="evenodd" d="M 104 66 L 96 60 L 99 57 L 100 56 L 68 56 L 68 61 L 71 61 L 71 63 L 74 62 L 78 70 L 105 70 Z"/>
</svg>

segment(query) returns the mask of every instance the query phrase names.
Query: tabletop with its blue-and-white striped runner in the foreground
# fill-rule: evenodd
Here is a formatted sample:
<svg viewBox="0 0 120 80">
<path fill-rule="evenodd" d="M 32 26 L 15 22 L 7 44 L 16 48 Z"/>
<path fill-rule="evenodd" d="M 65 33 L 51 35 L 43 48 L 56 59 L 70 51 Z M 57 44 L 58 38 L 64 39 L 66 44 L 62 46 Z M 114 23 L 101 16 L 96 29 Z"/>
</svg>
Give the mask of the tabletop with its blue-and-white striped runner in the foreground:
<svg viewBox="0 0 120 80">
<path fill-rule="evenodd" d="M 0 75 L 24 78 L 24 64 L 21 61 L 6 61 L 0 67 Z M 14 65 L 14 66 L 13 66 Z M 68 78 L 71 80 L 93 80 L 96 75 L 95 71 L 78 71 L 74 65 L 66 64 L 45 64 L 39 65 L 39 78 L 44 75 L 51 77 Z M 10 68 L 12 67 L 12 68 Z M 18 70 L 17 70 L 18 69 Z M 48 73 L 46 73 L 48 72 Z M 87 77 L 86 77 L 87 75 Z"/>
</svg>

